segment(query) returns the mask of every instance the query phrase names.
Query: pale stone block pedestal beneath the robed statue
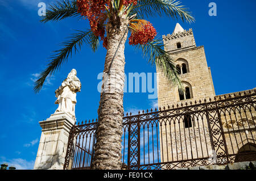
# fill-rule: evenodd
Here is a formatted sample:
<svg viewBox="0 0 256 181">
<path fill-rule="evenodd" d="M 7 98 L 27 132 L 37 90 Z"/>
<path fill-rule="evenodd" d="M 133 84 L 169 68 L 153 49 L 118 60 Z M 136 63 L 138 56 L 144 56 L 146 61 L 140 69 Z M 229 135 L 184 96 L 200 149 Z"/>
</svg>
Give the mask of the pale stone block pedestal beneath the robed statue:
<svg viewBox="0 0 256 181">
<path fill-rule="evenodd" d="M 69 131 L 75 125 L 68 113 L 57 112 L 40 121 L 42 134 L 34 169 L 63 170 Z"/>
</svg>

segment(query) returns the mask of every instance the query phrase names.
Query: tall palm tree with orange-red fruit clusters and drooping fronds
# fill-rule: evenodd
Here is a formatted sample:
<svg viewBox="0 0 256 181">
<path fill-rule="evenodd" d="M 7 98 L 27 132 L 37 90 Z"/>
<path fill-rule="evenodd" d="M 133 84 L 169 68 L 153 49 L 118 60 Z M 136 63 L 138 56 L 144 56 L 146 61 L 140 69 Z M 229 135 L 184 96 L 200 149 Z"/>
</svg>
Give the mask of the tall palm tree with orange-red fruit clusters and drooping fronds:
<svg viewBox="0 0 256 181">
<path fill-rule="evenodd" d="M 97 6 L 96 6 L 97 5 Z M 59 21 L 68 17 L 87 18 L 90 28 L 77 31 L 56 51 L 47 68 L 35 82 L 39 92 L 48 75 L 58 70 L 83 44 L 89 44 L 93 52 L 104 40 L 107 49 L 93 169 L 121 169 L 121 137 L 123 117 L 123 86 L 125 83 L 125 42 L 129 31 L 129 43 L 141 49 L 148 62 L 166 75 L 170 83 L 183 89 L 174 60 L 164 50 L 163 42 L 155 37 L 155 30 L 144 20 L 148 16 L 180 18 L 189 23 L 194 21 L 191 12 L 176 0 L 60 0 L 49 7 L 41 22 Z M 106 37 L 105 36 L 106 31 Z M 147 32 L 146 32 L 147 31 Z M 143 34 L 144 33 L 144 34 Z M 148 37 L 146 37 L 147 35 Z"/>
</svg>

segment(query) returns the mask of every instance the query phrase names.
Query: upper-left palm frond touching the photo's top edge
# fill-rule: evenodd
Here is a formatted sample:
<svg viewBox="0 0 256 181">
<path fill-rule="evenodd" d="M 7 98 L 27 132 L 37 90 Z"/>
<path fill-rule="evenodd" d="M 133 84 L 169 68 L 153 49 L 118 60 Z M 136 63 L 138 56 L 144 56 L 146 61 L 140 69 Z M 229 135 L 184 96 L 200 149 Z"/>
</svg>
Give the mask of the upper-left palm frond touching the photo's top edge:
<svg viewBox="0 0 256 181">
<path fill-rule="evenodd" d="M 56 2 L 55 5 L 49 6 L 49 9 L 46 10 L 46 16 L 43 16 L 40 22 L 59 21 L 73 16 L 81 16 L 80 13 L 77 12 L 76 0 L 60 0 Z"/>
</svg>

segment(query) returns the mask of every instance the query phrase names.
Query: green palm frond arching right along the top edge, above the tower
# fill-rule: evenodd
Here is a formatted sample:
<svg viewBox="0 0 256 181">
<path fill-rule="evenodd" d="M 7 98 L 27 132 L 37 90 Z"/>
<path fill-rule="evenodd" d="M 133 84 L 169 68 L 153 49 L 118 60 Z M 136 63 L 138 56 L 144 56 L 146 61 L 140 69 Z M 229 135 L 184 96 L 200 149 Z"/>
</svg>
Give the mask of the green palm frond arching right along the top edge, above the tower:
<svg viewBox="0 0 256 181">
<path fill-rule="evenodd" d="M 156 14 L 159 16 L 167 15 L 171 18 L 181 18 L 181 20 L 186 20 L 189 23 L 194 22 L 195 18 L 193 18 L 191 12 L 180 3 L 176 0 L 140 0 L 130 14 L 137 13 L 142 19 Z"/>
</svg>

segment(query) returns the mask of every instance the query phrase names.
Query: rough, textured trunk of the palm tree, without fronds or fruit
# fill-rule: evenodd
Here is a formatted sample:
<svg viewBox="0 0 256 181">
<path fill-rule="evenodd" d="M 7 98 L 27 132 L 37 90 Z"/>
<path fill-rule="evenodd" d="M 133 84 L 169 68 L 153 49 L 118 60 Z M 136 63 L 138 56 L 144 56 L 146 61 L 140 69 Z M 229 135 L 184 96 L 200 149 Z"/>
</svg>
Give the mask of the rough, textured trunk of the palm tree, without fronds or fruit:
<svg viewBox="0 0 256 181">
<path fill-rule="evenodd" d="M 109 77 L 104 76 L 101 92 L 102 102 L 98 113 L 100 120 L 96 133 L 93 169 L 121 169 L 121 137 L 123 120 L 123 86 L 125 84 L 125 42 L 128 21 L 116 18 L 106 26 L 108 50 L 106 53 L 104 75 L 110 69 Z M 122 40 L 122 41 L 121 41 Z M 121 43 L 120 43 L 121 42 Z M 120 44 L 119 44 L 120 43 Z M 119 48 L 118 48 L 119 45 Z M 118 49 L 118 50 L 117 50 Z M 114 54 L 115 58 L 112 62 Z M 112 64 L 112 65 L 111 65 Z M 111 68 L 110 68 L 111 65 Z"/>
</svg>

